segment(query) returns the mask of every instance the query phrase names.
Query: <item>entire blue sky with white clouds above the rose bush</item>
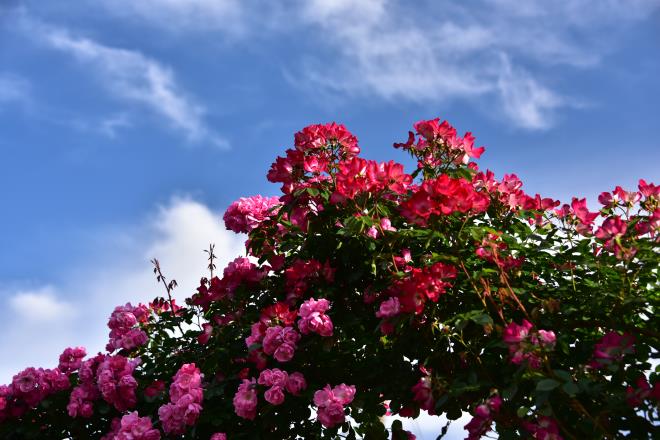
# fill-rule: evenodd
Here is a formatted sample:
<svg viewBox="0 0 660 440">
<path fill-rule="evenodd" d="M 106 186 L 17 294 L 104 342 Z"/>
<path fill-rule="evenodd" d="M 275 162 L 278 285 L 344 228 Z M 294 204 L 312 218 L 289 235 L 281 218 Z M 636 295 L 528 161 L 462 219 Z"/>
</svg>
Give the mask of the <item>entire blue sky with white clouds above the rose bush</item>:
<svg viewBox="0 0 660 440">
<path fill-rule="evenodd" d="M 529 192 L 660 177 L 660 1 L 0 0 L 0 382 L 190 293 L 231 201 L 310 123 L 364 156 L 439 116 Z M 9 360 L 7 360 L 9 359 Z"/>
</svg>

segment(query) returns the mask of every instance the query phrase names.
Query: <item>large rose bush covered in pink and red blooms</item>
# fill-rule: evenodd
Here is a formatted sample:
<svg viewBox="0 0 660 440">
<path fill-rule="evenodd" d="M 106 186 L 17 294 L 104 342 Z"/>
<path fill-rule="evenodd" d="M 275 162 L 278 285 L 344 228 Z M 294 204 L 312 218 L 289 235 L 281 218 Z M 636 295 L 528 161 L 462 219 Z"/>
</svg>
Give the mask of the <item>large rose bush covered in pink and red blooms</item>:
<svg viewBox="0 0 660 440">
<path fill-rule="evenodd" d="M 282 196 L 225 214 L 249 258 L 216 274 L 211 247 L 185 306 L 154 261 L 167 297 L 1 386 L 0 437 L 410 439 L 382 417 L 421 410 L 472 414 L 469 439 L 656 436 L 660 187 L 591 212 L 479 170 L 446 121 L 414 129 L 410 174 L 343 125 L 297 133 Z"/>
</svg>

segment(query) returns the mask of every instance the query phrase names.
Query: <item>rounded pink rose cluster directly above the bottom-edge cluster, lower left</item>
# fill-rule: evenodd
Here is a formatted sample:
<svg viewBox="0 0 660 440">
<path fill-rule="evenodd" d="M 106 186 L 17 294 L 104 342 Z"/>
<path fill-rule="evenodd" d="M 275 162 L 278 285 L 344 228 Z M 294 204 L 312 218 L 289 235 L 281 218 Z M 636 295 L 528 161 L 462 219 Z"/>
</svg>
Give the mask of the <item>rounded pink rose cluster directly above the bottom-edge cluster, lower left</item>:
<svg viewBox="0 0 660 440">
<path fill-rule="evenodd" d="M 138 384 L 133 371 L 139 363 L 139 359 L 116 355 L 106 356 L 98 366 L 96 384 L 101 396 L 117 411 L 126 411 L 137 403 L 135 391 Z"/>
</svg>

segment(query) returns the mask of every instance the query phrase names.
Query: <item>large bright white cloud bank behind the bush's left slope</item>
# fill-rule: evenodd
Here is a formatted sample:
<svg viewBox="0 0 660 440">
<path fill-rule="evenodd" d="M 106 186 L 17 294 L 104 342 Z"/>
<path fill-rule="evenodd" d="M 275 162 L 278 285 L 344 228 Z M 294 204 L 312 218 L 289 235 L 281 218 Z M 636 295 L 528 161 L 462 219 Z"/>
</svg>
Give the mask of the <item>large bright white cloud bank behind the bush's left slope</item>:
<svg viewBox="0 0 660 440">
<path fill-rule="evenodd" d="M 175 297 L 182 303 L 208 276 L 203 250 L 209 243 L 215 243 L 222 269 L 245 253 L 244 239 L 224 228 L 221 213 L 190 199 L 174 199 L 142 225 L 99 233 L 95 247 L 111 255 L 99 253 L 71 268 L 68 281 L 36 290 L 4 288 L 10 307 L 0 309 L 0 384 L 28 366 L 56 366 L 69 346 L 103 350 L 107 318 L 116 305 L 165 295 L 150 259 L 158 258 L 165 275 L 178 281 Z"/>
</svg>

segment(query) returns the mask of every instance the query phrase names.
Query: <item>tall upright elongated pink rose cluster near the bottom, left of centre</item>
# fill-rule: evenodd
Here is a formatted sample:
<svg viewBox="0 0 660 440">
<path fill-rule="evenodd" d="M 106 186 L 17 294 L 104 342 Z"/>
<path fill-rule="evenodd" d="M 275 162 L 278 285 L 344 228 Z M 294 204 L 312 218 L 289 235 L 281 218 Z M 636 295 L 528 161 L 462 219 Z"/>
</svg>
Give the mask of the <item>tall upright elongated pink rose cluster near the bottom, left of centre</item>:
<svg viewBox="0 0 660 440">
<path fill-rule="evenodd" d="M 182 435 L 197 422 L 202 411 L 202 375 L 195 364 L 183 364 L 170 385 L 170 403 L 158 408 L 158 417 L 167 434 Z"/>
</svg>

